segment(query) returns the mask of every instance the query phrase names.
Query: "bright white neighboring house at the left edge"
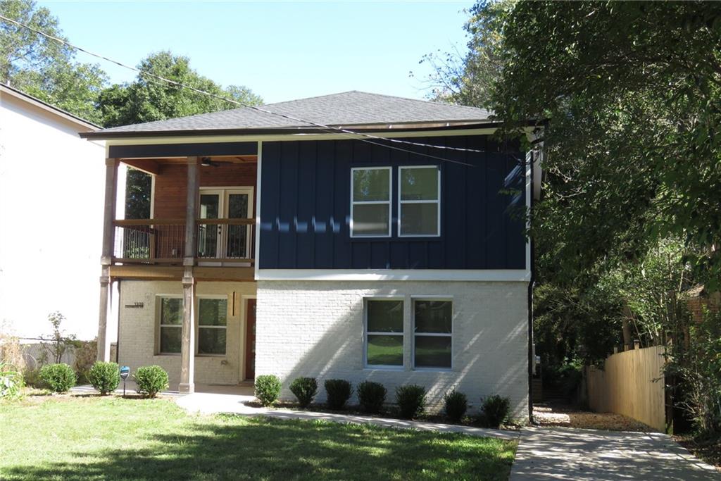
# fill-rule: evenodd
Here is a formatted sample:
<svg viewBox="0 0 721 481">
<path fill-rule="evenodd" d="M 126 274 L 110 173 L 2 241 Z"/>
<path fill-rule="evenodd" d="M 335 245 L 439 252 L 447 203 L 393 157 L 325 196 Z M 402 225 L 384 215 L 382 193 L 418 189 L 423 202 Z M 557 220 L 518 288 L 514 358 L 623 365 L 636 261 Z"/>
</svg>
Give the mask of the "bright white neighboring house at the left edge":
<svg viewBox="0 0 721 481">
<path fill-rule="evenodd" d="M 105 142 L 78 132 L 99 129 L 0 84 L 0 322 L 17 335 L 48 332 L 53 311 L 97 335 Z"/>
</svg>

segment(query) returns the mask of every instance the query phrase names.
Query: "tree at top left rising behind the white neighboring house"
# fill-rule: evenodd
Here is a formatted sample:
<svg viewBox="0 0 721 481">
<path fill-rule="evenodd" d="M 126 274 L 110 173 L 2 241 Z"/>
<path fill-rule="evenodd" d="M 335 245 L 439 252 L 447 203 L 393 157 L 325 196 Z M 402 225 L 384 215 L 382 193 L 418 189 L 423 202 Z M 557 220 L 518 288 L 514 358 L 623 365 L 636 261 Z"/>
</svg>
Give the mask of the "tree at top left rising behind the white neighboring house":
<svg viewBox="0 0 721 481">
<path fill-rule="evenodd" d="M 30 0 L 1 0 L 0 13 L 66 40 L 58 19 Z M 23 27 L 0 21 L 0 81 L 43 102 L 99 123 L 97 100 L 107 82 L 97 64 L 74 60 L 73 49 Z"/>
</svg>

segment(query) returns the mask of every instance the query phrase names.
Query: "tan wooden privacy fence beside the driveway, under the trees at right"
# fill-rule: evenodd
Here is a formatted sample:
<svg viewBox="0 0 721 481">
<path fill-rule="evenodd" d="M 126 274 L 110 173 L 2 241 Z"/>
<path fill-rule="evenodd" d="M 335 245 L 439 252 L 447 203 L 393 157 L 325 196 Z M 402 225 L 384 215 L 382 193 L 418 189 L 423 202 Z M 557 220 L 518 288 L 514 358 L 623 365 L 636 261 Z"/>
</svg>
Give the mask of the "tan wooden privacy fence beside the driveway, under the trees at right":
<svg viewBox="0 0 721 481">
<path fill-rule="evenodd" d="M 666 428 L 663 346 L 609 356 L 604 369 L 586 367 L 588 406 L 616 412 L 664 432 Z"/>
</svg>

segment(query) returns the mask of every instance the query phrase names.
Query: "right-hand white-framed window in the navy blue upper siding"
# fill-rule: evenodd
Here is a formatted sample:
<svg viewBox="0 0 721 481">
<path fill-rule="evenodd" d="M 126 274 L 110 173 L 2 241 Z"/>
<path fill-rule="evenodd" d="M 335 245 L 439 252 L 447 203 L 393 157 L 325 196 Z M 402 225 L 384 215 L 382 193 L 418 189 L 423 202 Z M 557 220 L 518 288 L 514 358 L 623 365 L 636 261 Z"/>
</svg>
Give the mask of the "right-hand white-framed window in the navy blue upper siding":
<svg viewBox="0 0 721 481">
<path fill-rule="evenodd" d="M 441 172 L 438 166 L 398 168 L 398 235 L 441 234 Z"/>
</svg>

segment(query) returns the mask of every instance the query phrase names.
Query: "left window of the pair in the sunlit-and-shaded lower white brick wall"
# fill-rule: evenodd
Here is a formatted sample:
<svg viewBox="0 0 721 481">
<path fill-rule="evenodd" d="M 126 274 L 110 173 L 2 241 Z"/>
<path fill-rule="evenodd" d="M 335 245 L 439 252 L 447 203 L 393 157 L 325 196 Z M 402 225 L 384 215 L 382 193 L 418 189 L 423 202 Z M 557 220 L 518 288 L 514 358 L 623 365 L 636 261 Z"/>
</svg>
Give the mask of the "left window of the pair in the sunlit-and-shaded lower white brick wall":
<svg viewBox="0 0 721 481">
<path fill-rule="evenodd" d="M 403 366 L 403 301 L 366 300 L 366 365 Z"/>
</svg>

